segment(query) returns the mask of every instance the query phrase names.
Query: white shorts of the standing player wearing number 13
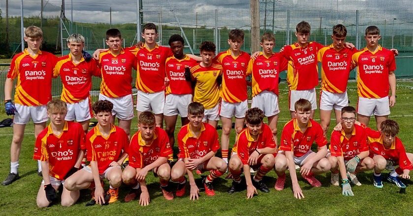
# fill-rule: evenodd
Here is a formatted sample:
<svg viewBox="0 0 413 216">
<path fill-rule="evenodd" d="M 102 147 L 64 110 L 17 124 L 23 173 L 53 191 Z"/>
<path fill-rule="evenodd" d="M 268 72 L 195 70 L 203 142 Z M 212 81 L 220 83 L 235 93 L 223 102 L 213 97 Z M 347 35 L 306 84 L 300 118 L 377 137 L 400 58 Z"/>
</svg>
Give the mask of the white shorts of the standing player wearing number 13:
<svg viewBox="0 0 413 216">
<path fill-rule="evenodd" d="M 321 110 L 339 110 L 349 106 L 349 98 L 347 91 L 343 93 L 332 93 L 321 90 L 320 93 L 320 109 Z"/>
</svg>

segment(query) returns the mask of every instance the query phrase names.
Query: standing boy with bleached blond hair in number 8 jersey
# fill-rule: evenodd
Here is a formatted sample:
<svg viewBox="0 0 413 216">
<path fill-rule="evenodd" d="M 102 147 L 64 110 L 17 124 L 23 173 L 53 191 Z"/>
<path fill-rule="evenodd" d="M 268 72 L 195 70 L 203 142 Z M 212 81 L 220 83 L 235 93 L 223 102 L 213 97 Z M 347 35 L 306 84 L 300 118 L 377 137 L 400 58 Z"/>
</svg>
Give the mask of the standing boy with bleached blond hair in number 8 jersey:
<svg viewBox="0 0 413 216">
<path fill-rule="evenodd" d="M 88 133 L 89 121 L 93 117 L 90 90 L 92 76 L 101 76 L 96 61 L 86 61 L 82 56 L 85 38 L 71 34 L 67 38 L 70 54 L 62 56 L 56 63 L 54 76 L 61 77 L 63 83 L 61 100 L 66 102 L 67 113 L 64 120 L 79 122 Z"/>
</svg>

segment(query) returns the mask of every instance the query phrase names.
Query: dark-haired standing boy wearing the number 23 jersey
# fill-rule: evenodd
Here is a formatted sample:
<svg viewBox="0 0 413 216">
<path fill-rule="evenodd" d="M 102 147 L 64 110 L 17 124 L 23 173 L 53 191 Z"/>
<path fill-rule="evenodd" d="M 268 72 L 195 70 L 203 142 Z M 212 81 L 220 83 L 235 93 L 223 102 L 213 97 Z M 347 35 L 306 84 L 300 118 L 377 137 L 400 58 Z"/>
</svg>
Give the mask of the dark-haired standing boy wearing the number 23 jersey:
<svg viewBox="0 0 413 216">
<path fill-rule="evenodd" d="M 132 68 L 136 69 L 136 57 L 122 48 L 121 32 L 112 28 L 106 31 L 109 50 L 99 54 L 100 83 L 99 100 L 113 104 L 112 123 L 118 118 L 119 127 L 130 134 L 133 114 Z"/>
</svg>

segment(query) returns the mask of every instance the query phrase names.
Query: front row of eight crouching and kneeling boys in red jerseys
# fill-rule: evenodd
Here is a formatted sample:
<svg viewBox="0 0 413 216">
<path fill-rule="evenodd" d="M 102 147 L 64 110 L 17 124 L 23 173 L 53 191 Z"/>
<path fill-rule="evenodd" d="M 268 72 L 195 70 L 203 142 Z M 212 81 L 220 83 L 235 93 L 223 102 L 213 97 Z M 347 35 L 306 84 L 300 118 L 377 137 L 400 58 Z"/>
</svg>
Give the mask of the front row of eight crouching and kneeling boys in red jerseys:
<svg viewBox="0 0 413 216">
<path fill-rule="evenodd" d="M 34 159 L 40 159 L 43 167 L 43 181 L 37 194 L 39 207 L 50 206 L 57 199 L 57 190 L 63 185 L 62 205 L 70 206 L 79 198 L 80 189 L 92 189 L 92 201 L 87 205 L 109 204 L 118 200 L 118 189 L 122 182 L 131 187 L 125 201 L 139 196 L 139 204 L 150 203 L 146 186 L 146 176 L 150 171 L 159 176 L 160 189 L 167 200 L 174 198 L 169 182 L 178 183 L 176 196 L 184 196 L 187 181 L 191 186 L 190 199 L 198 199 L 199 189 L 195 184 L 193 171 L 209 171 L 202 180 L 205 193 L 214 196 L 213 181 L 222 176 L 226 162 L 215 154 L 220 148 L 218 133 L 213 126 L 203 123 L 204 107 L 198 102 L 188 106 L 189 124 L 178 133 L 178 162 L 173 166 L 168 162 L 172 148 L 166 132 L 156 126 L 155 115 L 149 111 L 141 113 L 136 132 L 130 142 L 125 131 L 111 123 L 113 104 L 98 101 L 93 105 L 97 125 L 85 136 L 82 125 L 65 121 L 67 105 L 61 100 L 47 104 L 50 125 L 36 139 L 41 146 L 34 152 Z M 331 135 L 331 153 L 327 153 L 327 140 L 321 126 L 310 118 L 311 102 L 299 99 L 294 105 L 296 118 L 284 126 L 279 149 L 276 148 L 271 129 L 263 123 L 264 113 L 259 108 L 246 111 L 246 125 L 238 137 L 229 161 L 229 171 L 233 182 L 228 193 L 247 189 L 247 198 L 270 190 L 262 181 L 271 169 L 278 178 L 276 190 L 284 189 L 286 169 L 292 181 L 296 198 L 304 198 L 298 185 L 295 165 L 300 166 L 303 178 L 313 187 L 321 183 L 314 177 L 329 170 L 331 184 L 338 186 L 338 172 L 342 177 L 343 195 L 353 195 L 350 181 L 361 185 L 357 172 L 374 169 L 374 185 L 382 188 L 381 172 L 390 170 L 388 181 L 400 188 L 406 186 L 401 178 L 409 179 L 413 154 L 406 153 L 400 139 L 397 123 L 386 120 L 381 124 L 381 132 L 367 128 L 356 121 L 355 109 L 344 107 L 340 124 Z M 318 151 L 311 145 L 316 142 Z M 87 152 L 90 164 L 82 168 L 81 162 Z M 126 157 L 129 164 L 122 170 Z M 397 168 L 396 168 L 397 167 Z M 254 177 L 250 168 L 257 170 Z M 241 174 L 244 171 L 245 182 Z M 186 178 L 188 176 L 188 179 Z M 105 195 L 103 181 L 109 181 Z M 350 180 L 349 180 L 350 179 Z"/>
</svg>

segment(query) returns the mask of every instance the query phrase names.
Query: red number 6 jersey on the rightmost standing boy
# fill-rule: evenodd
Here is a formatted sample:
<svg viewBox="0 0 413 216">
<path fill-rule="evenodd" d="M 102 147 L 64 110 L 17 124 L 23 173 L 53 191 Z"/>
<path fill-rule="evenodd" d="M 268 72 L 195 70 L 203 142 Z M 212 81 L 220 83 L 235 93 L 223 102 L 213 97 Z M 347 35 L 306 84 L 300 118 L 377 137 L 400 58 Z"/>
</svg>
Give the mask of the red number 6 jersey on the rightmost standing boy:
<svg viewBox="0 0 413 216">
<path fill-rule="evenodd" d="M 396 70 L 393 52 L 378 47 L 372 53 L 367 48 L 353 54 L 352 64 L 357 66 L 357 93 L 362 98 L 383 98 L 389 92 L 389 72 Z"/>
</svg>

